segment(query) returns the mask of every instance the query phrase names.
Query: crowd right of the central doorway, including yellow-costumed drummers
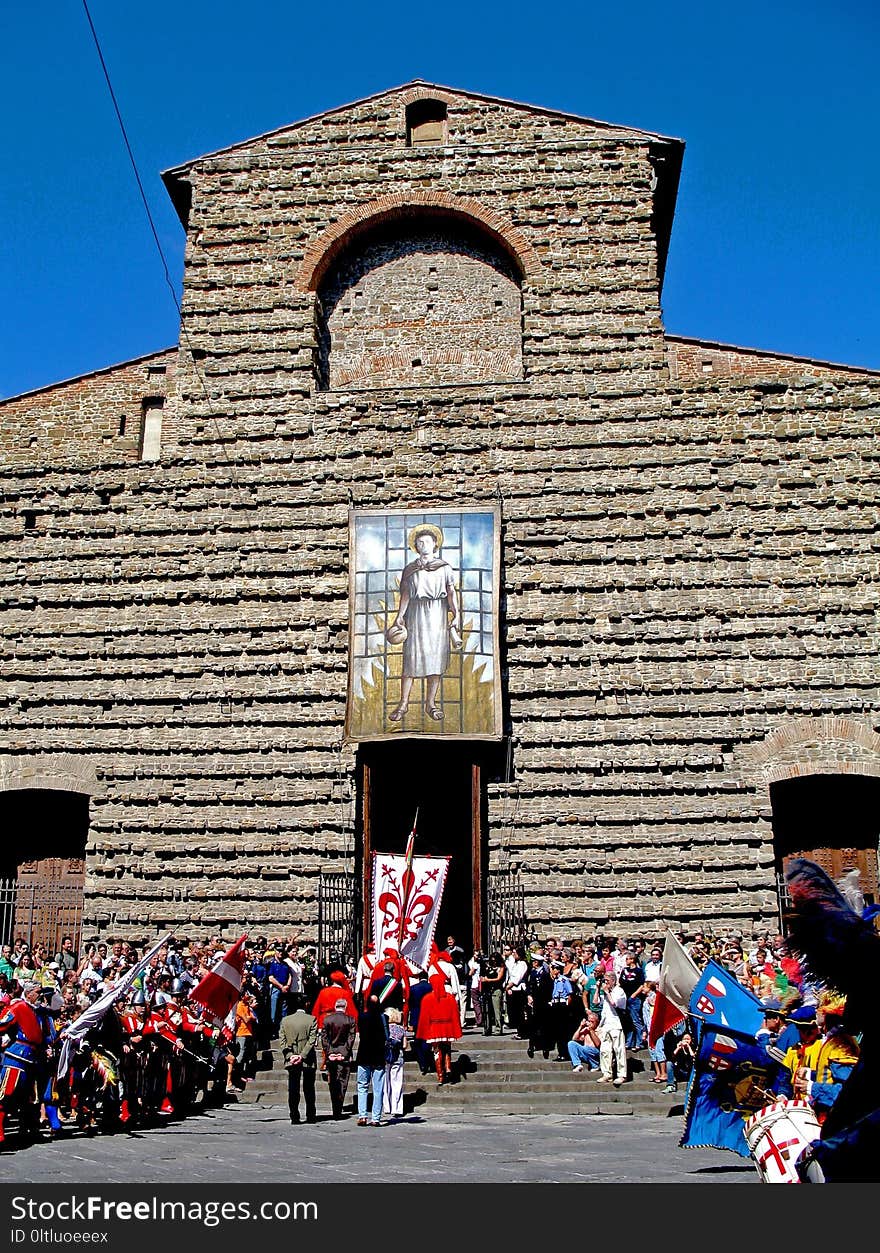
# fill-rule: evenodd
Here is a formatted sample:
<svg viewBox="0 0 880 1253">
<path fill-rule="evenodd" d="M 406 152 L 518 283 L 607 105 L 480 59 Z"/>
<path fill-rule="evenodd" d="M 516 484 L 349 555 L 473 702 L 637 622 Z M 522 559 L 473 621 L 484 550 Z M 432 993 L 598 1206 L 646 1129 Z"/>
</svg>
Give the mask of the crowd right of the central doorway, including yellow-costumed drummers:
<svg viewBox="0 0 880 1253">
<path fill-rule="evenodd" d="M 712 960 L 761 1001 L 761 1042 L 783 1059 L 781 1091 L 812 1099 L 815 1088 L 821 1104 L 840 1090 L 859 1055 L 844 1037 L 844 1002 L 806 979 L 785 936 L 762 931 L 746 941 L 738 932 L 694 931 L 677 940 L 698 970 Z M 463 986 L 478 1029 L 490 1035 L 506 1027 L 529 1058 L 568 1063 L 574 1074 L 597 1071 L 598 1083 L 619 1088 L 632 1079 L 633 1055 L 643 1053 L 651 1081 L 672 1095 L 691 1074 L 696 1024 L 686 1017 L 649 1040 L 663 944 L 659 936 L 549 935 L 475 952 Z"/>
</svg>

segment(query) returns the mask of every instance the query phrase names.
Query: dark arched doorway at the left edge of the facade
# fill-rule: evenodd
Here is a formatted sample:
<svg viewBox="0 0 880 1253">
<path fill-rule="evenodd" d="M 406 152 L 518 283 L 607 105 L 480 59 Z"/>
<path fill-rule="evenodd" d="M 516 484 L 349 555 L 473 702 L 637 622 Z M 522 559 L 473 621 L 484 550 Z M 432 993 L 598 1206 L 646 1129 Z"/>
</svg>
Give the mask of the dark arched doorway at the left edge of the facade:
<svg viewBox="0 0 880 1253">
<path fill-rule="evenodd" d="M 0 792 L 0 942 L 15 937 L 50 954 L 70 935 L 79 947 L 89 797 L 20 788 Z"/>
</svg>

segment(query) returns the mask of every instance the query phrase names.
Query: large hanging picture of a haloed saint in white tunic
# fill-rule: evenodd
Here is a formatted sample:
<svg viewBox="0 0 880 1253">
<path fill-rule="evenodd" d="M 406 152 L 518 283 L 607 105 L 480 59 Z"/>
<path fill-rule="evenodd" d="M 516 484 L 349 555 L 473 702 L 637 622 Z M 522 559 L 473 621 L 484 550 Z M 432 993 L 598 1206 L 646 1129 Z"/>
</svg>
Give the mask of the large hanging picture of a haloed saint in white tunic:
<svg viewBox="0 0 880 1253">
<path fill-rule="evenodd" d="M 500 737 L 494 506 L 354 510 L 348 739 Z"/>
</svg>

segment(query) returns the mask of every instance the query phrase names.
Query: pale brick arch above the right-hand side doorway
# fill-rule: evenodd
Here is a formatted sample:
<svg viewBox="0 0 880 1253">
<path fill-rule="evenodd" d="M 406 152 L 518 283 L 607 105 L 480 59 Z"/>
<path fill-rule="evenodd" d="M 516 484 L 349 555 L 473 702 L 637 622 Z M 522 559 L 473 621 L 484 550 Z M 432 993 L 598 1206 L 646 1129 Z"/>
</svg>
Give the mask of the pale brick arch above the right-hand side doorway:
<svg viewBox="0 0 880 1253">
<path fill-rule="evenodd" d="M 880 736 L 856 718 L 792 718 L 735 756 L 753 787 L 806 774 L 880 777 Z"/>
</svg>

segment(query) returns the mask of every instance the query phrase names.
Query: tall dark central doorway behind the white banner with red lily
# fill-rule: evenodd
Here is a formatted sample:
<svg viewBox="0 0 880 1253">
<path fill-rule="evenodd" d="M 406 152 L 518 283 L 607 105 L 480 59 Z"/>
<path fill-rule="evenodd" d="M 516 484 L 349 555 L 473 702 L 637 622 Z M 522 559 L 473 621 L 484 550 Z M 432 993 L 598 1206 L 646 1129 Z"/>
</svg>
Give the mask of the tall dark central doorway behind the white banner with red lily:
<svg viewBox="0 0 880 1253">
<path fill-rule="evenodd" d="M 364 900 L 374 852 L 402 853 L 416 809 L 416 856 L 451 857 L 436 940 L 465 951 L 483 928 L 483 771 L 473 744 L 401 741 L 361 749 Z"/>
</svg>

